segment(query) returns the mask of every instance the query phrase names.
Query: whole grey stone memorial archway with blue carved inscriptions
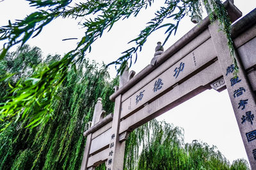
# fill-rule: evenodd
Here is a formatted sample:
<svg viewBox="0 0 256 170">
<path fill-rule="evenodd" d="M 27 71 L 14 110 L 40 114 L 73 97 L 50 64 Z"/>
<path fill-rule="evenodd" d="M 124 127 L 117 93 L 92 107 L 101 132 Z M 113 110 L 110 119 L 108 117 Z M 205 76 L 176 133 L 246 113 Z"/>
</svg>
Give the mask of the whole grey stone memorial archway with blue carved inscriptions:
<svg viewBox="0 0 256 170">
<path fill-rule="evenodd" d="M 225 2 L 232 22 L 241 11 Z M 196 25 L 174 45 L 156 55 L 140 73 L 124 71 L 120 88 L 110 97 L 114 113 L 102 118 L 101 99 L 93 113 L 81 169 L 94 169 L 103 162 L 108 170 L 123 169 L 125 140 L 129 133 L 162 113 L 207 89 L 227 89 L 244 147 L 252 169 L 256 169 L 256 10 L 232 25 L 239 73 L 227 46 L 227 36 L 218 20 L 209 17 Z M 254 118 L 255 117 L 255 118 Z"/>
</svg>

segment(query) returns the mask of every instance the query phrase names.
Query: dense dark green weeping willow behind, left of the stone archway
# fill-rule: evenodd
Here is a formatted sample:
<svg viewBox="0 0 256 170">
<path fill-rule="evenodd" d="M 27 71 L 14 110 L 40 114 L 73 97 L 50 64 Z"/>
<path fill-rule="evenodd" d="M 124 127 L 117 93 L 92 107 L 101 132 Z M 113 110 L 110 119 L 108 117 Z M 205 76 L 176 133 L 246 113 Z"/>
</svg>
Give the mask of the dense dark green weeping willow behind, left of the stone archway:
<svg viewBox="0 0 256 170">
<path fill-rule="evenodd" d="M 35 65 L 39 62 L 37 67 L 44 67 L 59 57 L 49 55 L 42 62 L 39 60 L 38 48 L 25 47 L 22 52 L 8 53 L 5 62 L 1 62 L 1 71 L 15 73 L 11 84 L 26 81 L 28 74 L 34 74 L 28 73 L 28 70 L 35 72 Z M 36 60 L 33 58 L 34 54 L 38 55 Z M 19 74 L 21 80 L 15 78 Z M 109 101 L 109 96 L 113 93 L 116 82 L 116 79 L 109 81 L 106 67 L 95 62 L 83 60 L 76 70 L 74 67 L 69 68 L 67 78 L 54 96 L 52 118 L 47 123 L 33 129 L 24 128 L 31 118 L 28 116 L 24 117 L 24 122 L 15 122 L 14 117 L 0 122 L 0 129 L 9 124 L 0 133 L 0 169 L 79 169 L 86 140 L 83 137 L 86 123 L 92 120 L 98 97 L 102 97 L 107 113 L 113 110 L 113 102 Z M 3 96 L 8 96 L 6 90 L 12 88 L 7 83 L 1 86 L 1 90 L 5 92 L 1 95 L 3 102 Z"/>
</svg>

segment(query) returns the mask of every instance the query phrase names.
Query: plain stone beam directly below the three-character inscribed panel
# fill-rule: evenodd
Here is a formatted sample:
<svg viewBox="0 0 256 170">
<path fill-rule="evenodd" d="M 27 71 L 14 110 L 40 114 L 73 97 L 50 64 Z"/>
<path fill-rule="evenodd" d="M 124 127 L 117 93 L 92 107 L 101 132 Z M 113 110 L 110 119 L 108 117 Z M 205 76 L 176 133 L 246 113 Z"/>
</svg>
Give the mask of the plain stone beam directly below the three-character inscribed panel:
<svg viewBox="0 0 256 170">
<path fill-rule="evenodd" d="M 152 103 L 145 104 L 143 108 L 120 122 L 119 134 L 132 131 L 204 90 L 211 89 L 210 83 L 222 76 L 218 67 L 220 67 L 220 64 L 217 60 L 200 73 L 173 87 L 172 90 L 152 101 Z"/>
</svg>

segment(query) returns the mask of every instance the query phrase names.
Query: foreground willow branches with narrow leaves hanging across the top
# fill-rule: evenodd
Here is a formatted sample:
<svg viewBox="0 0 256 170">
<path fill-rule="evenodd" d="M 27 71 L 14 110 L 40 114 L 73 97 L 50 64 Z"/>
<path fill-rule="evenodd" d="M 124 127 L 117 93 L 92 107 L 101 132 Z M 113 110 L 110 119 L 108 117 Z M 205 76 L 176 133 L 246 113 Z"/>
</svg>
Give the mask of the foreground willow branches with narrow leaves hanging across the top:
<svg viewBox="0 0 256 170">
<path fill-rule="evenodd" d="M 118 22 L 124 20 L 131 15 L 136 17 L 141 9 L 150 10 L 153 0 L 117 0 L 117 1 L 81 1 L 77 4 L 71 4 L 71 0 L 44 1 L 44 0 L 27 0 L 31 6 L 35 6 L 38 11 L 31 13 L 23 20 L 9 21 L 8 25 L 0 28 L 0 40 L 6 41 L 1 49 L 0 59 L 4 56 L 13 45 L 21 46 L 26 41 L 35 37 L 45 25 L 58 17 L 69 17 L 81 20 L 84 28 L 84 36 L 79 39 L 79 43 L 74 50 L 68 52 L 60 61 L 56 61 L 49 66 L 41 67 L 36 74 L 31 75 L 26 81 L 19 81 L 13 86 L 13 94 L 6 103 L 0 106 L 0 118 L 4 120 L 9 117 L 16 117 L 17 120 L 23 120 L 24 117 L 31 117 L 27 122 L 28 127 L 47 122 L 52 117 L 52 105 L 54 105 L 54 97 L 58 96 L 58 89 L 61 83 L 67 78 L 68 68 L 70 66 L 77 67 L 83 59 L 84 55 L 91 50 L 92 43 L 100 38 L 104 31 L 108 31 Z M 210 8 L 209 1 L 212 5 Z M 137 53 L 140 52 L 148 36 L 157 29 L 166 27 L 166 39 L 171 34 L 175 34 L 178 29 L 179 22 L 184 16 L 202 15 L 202 8 L 205 7 L 210 13 L 210 18 L 220 20 L 222 31 L 228 38 L 228 46 L 230 53 L 233 55 L 234 47 L 230 38 L 230 19 L 227 11 L 221 4 L 220 0 L 165 0 L 163 6 L 156 11 L 156 16 L 145 25 L 145 29 L 141 30 L 137 38 L 130 41 L 133 47 L 125 50 L 117 60 L 111 64 L 115 64 L 118 72 L 122 72 L 127 62 L 136 62 Z M 215 16 L 215 17 L 214 17 Z M 162 24 L 164 20 L 172 19 L 172 23 Z M 234 59 L 236 66 L 236 59 Z M 236 71 L 237 71 L 236 66 Z M 8 77 L 8 76 L 6 76 Z M 5 77 L 5 78 L 6 78 Z M 3 80 L 3 77 L 1 78 Z M 26 95 L 24 95 L 26 94 Z M 33 114 L 31 108 L 40 108 L 38 114 Z M 20 117 L 20 115 L 24 115 Z"/>
</svg>

